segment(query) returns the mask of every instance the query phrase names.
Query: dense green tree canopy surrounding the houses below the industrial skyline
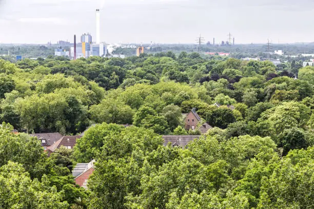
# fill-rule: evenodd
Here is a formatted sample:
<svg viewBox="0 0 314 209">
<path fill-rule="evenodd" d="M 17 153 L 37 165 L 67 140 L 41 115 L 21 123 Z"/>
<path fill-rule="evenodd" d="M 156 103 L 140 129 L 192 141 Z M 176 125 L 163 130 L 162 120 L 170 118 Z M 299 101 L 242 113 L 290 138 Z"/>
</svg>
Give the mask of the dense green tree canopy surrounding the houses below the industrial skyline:
<svg viewBox="0 0 314 209">
<path fill-rule="evenodd" d="M 314 67 L 169 51 L 0 59 L 0 73 L 0 208 L 313 208 Z M 213 129 L 164 146 L 200 134 L 192 108 Z M 91 124 L 49 157 L 29 136 Z M 71 171 L 92 159 L 85 190 Z"/>
</svg>

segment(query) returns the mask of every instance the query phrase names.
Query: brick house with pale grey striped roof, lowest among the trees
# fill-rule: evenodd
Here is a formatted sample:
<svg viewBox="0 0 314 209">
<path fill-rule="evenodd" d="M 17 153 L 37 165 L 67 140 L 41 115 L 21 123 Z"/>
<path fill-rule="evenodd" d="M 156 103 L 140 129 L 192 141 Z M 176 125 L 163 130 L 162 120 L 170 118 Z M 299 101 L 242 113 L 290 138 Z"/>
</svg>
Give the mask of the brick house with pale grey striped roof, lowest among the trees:
<svg viewBox="0 0 314 209">
<path fill-rule="evenodd" d="M 72 170 L 72 175 L 75 177 L 74 181 L 77 185 L 87 189 L 87 180 L 89 176 L 94 172 L 94 162 L 89 163 L 77 163 Z"/>
</svg>

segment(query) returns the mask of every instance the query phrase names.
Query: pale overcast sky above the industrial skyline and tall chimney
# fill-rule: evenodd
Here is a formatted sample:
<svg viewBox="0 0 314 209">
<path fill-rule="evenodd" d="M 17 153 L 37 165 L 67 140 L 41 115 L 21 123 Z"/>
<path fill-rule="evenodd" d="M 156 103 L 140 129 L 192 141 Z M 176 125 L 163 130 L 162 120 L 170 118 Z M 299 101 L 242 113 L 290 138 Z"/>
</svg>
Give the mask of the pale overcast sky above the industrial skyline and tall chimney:
<svg viewBox="0 0 314 209">
<path fill-rule="evenodd" d="M 0 0 L 0 43 L 73 42 L 95 37 L 101 10 L 106 43 L 295 43 L 314 41 L 312 0 Z"/>
</svg>

